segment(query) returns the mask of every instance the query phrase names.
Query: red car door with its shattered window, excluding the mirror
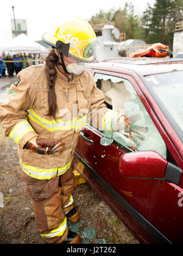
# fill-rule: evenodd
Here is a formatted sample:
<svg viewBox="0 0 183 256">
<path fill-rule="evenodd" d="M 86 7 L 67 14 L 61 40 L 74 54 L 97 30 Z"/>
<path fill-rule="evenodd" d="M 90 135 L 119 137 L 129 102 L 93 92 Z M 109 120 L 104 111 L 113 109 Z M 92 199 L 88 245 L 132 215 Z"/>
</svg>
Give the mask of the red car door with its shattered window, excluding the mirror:
<svg viewBox="0 0 183 256">
<path fill-rule="evenodd" d="M 107 107 L 128 117 L 131 133 L 104 132 L 88 123 L 81 133 L 76 153 L 137 211 L 139 218 L 143 216 L 147 227 L 152 228 L 149 230 L 151 233 L 159 236 L 162 241 L 181 241 L 182 228 L 178 227 L 181 214 L 178 200 L 174 200 L 177 197 L 174 187 L 167 188 L 167 181 L 156 177 L 132 178 L 120 174 L 119 163 L 124 153 L 153 150 L 163 159 L 167 159 L 167 146 L 152 120 L 151 109 L 142 92 L 138 90 L 137 82 L 129 75 L 98 70 L 94 71 L 94 78 L 106 96 Z M 147 104 L 148 111 L 143 103 Z M 165 188 L 170 192 L 170 195 L 167 194 L 170 196 L 169 206 L 165 203 Z M 161 207 L 162 203 L 165 208 Z M 167 210 L 172 214 L 165 214 Z M 167 224 L 170 221 L 173 225 L 168 229 Z M 149 222 L 152 225 L 149 226 Z M 178 235 L 173 237 L 172 232 Z"/>
</svg>

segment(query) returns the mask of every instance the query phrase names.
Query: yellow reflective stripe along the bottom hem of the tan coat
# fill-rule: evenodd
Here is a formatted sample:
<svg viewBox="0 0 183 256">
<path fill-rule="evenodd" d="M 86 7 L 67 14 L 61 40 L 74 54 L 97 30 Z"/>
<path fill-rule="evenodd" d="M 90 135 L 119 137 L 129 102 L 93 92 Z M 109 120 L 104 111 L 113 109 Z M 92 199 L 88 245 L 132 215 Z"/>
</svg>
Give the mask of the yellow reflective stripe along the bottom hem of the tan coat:
<svg viewBox="0 0 183 256">
<path fill-rule="evenodd" d="M 38 180 L 50 180 L 56 176 L 57 170 L 58 175 L 65 174 L 65 172 L 70 168 L 72 161 L 73 159 L 68 164 L 66 164 L 66 166 L 51 169 L 41 169 L 34 166 L 29 166 L 29 164 L 23 164 L 21 161 L 20 165 L 21 169 L 23 169 L 23 171 L 30 177 L 37 178 Z"/>
</svg>

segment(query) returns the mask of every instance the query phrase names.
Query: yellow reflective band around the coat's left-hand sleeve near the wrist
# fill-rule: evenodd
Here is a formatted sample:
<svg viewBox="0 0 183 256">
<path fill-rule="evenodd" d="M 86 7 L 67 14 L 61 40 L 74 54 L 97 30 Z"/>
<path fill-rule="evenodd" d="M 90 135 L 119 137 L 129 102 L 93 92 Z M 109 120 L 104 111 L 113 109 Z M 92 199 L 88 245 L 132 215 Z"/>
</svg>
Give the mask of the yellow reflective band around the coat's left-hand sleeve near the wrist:
<svg viewBox="0 0 183 256">
<path fill-rule="evenodd" d="M 16 144 L 18 144 L 20 139 L 30 131 L 34 131 L 34 129 L 32 128 L 32 126 L 30 126 L 27 120 L 24 120 L 15 125 L 13 130 L 10 132 L 9 137 L 13 139 L 13 141 L 15 141 Z"/>
</svg>

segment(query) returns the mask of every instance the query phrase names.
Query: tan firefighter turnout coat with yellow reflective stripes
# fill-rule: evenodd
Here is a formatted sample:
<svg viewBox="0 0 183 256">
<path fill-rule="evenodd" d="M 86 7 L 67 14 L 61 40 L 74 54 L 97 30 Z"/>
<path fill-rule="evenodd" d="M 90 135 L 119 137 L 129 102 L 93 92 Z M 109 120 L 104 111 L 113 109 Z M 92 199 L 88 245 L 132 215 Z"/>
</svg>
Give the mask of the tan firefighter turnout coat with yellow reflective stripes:
<svg viewBox="0 0 183 256">
<path fill-rule="evenodd" d="M 57 122 L 46 115 L 49 89 L 45 64 L 32 65 L 20 71 L 16 82 L 10 86 L 8 98 L 0 103 L 0 120 L 5 136 L 10 136 L 18 145 L 21 168 L 27 175 L 38 179 L 50 179 L 69 169 L 79 132 L 86 125 L 87 113 L 90 122 L 95 120 L 95 125 L 103 129 L 104 115 L 110 111 L 104 104 L 104 94 L 86 70 L 68 82 L 57 68 L 54 89 Z M 34 136 L 61 140 L 62 152 L 59 155 L 40 155 L 23 149 Z"/>
</svg>

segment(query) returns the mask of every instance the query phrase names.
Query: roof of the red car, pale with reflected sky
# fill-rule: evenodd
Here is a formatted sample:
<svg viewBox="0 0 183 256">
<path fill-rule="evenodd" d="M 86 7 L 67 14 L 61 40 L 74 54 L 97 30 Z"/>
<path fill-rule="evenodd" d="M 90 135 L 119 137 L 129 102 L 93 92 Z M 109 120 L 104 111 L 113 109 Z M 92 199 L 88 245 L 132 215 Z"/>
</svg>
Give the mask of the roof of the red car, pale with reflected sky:
<svg viewBox="0 0 183 256">
<path fill-rule="evenodd" d="M 174 58 L 154 58 L 154 57 L 117 57 L 87 64 L 88 68 L 111 67 L 112 70 L 120 71 L 121 68 L 135 71 L 143 76 L 156 73 L 165 73 L 173 70 L 183 70 L 183 60 Z"/>
</svg>

